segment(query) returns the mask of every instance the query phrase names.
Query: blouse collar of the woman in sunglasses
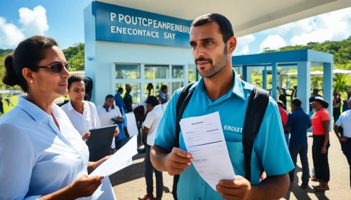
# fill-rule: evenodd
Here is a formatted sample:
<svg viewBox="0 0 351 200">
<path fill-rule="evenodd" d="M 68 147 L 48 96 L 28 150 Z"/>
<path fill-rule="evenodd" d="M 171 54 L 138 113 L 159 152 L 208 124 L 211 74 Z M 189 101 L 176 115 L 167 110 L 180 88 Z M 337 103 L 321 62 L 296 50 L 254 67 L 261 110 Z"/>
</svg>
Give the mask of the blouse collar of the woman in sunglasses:
<svg viewBox="0 0 351 200">
<path fill-rule="evenodd" d="M 27 100 L 27 96 L 22 94 L 18 96 L 17 106 L 25 110 L 33 119 L 41 123 L 46 117 L 50 115 L 40 109 L 37 105 Z"/>
</svg>

